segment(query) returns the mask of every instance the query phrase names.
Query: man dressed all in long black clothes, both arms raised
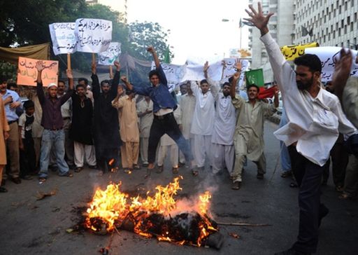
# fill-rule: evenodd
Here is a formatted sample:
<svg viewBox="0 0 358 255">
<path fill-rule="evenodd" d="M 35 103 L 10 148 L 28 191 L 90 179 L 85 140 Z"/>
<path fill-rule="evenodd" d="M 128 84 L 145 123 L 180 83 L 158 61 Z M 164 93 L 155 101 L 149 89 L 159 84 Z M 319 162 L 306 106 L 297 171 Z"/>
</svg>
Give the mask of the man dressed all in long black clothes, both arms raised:
<svg viewBox="0 0 358 255">
<path fill-rule="evenodd" d="M 117 87 L 120 82 L 120 63 L 115 61 L 115 76 L 113 83 L 101 81 L 96 75 L 96 64 L 92 63 L 92 92 L 94 98 L 94 148 L 96 161 L 101 172 L 108 172 L 118 167 L 119 149 L 122 144 L 118 132 L 118 113 L 112 107 L 112 101 L 117 97 Z"/>
</svg>

